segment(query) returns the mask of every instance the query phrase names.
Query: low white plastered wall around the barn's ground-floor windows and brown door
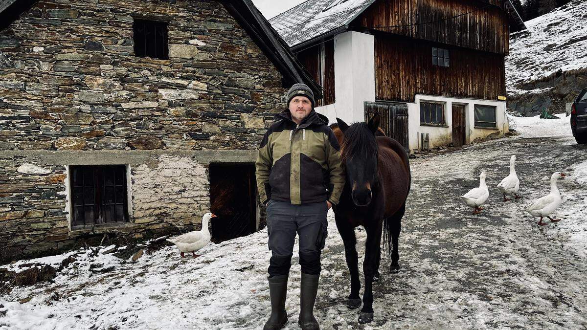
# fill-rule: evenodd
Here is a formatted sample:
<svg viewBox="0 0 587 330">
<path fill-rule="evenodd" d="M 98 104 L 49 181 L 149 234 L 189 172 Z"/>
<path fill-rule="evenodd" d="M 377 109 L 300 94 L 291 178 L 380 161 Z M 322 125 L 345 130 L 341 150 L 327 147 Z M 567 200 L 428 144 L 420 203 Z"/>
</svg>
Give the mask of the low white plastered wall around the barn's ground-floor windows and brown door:
<svg viewBox="0 0 587 330">
<path fill-rule="evenodd" d="M 427 126 L 420 123 L 420 102 L 441 102 L 444 103 L 444 116 L 446 125 Z M 453 104 L 465 106 L 465 142 L 471 143 L 475 139 L 483 139 L 492 133 L 500 135 L 507 133 L 510 127 L 505 116 L 505 102 L 480 100 L 480 99 L 461 99 L 457 97 L 443 97 L 430 95 L 416 95 L 415 103 L 407 103 L 408 106 L 408 129 L 410 151 L 421 149 L 421 133 L 429 133 L 429 148 L 438 146 L 447 146 L 453 142 Z M 495 128 L 476 128 L 475 127 L 475 105 L 487 105 L 495 107 Z"/>
</svg>

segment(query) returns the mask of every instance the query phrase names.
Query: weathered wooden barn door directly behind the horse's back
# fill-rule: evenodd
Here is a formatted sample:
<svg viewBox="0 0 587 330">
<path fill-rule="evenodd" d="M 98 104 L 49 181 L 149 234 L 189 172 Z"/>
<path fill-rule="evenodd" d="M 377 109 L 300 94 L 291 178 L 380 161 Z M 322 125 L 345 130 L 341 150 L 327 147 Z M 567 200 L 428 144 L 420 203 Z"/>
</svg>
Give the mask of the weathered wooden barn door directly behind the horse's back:
<svg viewBox="0 0 587 330">
<path fill-rule="evenodd" d="M 365 120 L 379 113 L 379 127 L 386 136 L 396 140 L 406 151 L 410 151 L 408 140 L 407 105 L 402 103 L 365 102 Z"/>
</svg>

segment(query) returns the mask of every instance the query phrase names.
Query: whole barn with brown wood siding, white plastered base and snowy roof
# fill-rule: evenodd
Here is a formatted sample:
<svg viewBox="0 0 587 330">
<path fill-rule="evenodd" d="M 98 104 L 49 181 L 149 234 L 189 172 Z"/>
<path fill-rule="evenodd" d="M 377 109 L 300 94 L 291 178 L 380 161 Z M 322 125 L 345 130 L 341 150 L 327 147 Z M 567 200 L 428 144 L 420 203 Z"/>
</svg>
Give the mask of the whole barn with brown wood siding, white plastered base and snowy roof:
<svg viewBox="0 0 587 330">
<path fill-rule="evenodd" d="M 331 122 L 380 113 L 411 152 L 508 132 L 508 36 L 525 28 L 509 0 L 309 0 L 269 22 Z"/>
</svg>

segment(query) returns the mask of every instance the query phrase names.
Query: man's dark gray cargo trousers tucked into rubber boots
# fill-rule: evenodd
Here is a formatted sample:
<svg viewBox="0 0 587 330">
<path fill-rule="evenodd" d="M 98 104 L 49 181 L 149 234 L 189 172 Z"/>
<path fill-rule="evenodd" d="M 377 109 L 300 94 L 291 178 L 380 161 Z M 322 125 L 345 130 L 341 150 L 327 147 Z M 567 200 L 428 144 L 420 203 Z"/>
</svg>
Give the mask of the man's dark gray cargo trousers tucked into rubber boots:
<svg viewBox="0 0 587 330">
<path fill-rule="evenodd" d="M 269 234 L 269 277 L 289 274 L 296 233 L 299 236 L 299 264 L 304 274 L 318 275 L 322 270 L 320 255 L 328 236 L 326 201 L 292 205 L 286 201 L 267 203 Z"/>
</svg>

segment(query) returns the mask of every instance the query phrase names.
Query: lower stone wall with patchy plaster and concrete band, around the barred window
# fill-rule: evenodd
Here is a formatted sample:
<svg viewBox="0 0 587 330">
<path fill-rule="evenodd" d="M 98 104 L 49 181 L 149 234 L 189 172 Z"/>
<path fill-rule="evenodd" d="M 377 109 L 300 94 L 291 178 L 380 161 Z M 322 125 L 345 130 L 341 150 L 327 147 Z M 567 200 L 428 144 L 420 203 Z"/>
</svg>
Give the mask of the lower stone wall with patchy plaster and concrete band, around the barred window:
<svg viewBox="0 0 587 330">
<path fill-rule="evenodd" d="M 143 239 L 199 230 L 210 210 L 210 163 L 252 162 L 255 155 L 255 150 L 0 153 L 0 260 L 97 243 L 106 232 Z M 68 167 L 90 164 L 129 167 L 129 223 L 72 228 Z"/>
</svg>

